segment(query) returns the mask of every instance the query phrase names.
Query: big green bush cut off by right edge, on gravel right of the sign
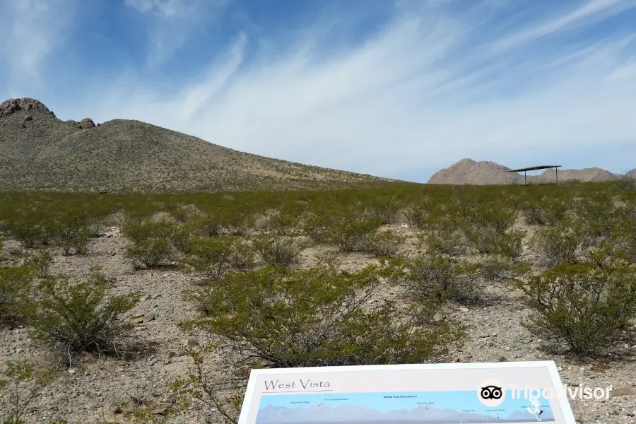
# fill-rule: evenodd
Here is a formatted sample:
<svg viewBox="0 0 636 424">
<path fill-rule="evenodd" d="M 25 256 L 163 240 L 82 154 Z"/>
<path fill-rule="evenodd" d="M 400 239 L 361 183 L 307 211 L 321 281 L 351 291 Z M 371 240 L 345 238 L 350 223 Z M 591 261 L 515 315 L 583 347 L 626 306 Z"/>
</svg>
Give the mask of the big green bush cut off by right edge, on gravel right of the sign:
<svg viewBox="0 0 636 424">
<path fill-rule="evenodd" d="M 636 317 L 636 274 L 625 266 L 561 264 L 517 286 L 532 310 L 524 326 L 575 353 L 609 346 Z"/>
</svg>

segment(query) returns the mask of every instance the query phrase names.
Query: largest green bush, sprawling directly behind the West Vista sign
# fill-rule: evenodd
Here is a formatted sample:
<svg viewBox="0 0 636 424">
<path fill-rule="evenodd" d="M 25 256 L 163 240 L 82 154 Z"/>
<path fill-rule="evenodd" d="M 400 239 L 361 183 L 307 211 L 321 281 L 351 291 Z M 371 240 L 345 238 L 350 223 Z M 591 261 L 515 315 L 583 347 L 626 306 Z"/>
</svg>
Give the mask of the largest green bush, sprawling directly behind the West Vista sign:
<svg viewBox="0 0 636 424">
<path fill-rule="evenodd" d="M 336 276 L 273 267 L 228 273 L 206 292 L 209 312 L 194 326 L 266 367 L 423 363 L 461 342 L 459 324 L 435 305 L 400 313 L 388 300 L 372 302 L 380 285 L 372 267 Z"/>
</svg>

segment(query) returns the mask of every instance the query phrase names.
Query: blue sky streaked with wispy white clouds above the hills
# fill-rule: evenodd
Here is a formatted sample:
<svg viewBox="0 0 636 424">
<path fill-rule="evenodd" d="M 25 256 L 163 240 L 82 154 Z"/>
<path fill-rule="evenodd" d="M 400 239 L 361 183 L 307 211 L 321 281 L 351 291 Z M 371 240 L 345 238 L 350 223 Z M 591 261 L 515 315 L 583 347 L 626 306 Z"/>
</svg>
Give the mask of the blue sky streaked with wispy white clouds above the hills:
<svg viewBox="0 0 636 424">
<path fill-rule="evenodd" d="M 0 99 L 425 182 L 636 167 L 636 0 L 6 0 Z"/>
</svg>

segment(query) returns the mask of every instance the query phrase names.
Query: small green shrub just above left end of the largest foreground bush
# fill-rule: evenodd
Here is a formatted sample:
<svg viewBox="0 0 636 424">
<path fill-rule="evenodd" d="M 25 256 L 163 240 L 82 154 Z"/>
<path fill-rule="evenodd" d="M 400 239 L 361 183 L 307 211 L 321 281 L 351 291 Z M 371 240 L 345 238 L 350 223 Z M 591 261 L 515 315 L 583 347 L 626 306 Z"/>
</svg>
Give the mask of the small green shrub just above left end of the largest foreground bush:
<svg viewBox="0 0 636 424">
<path fill-rule="evenodd" d="M 234 245 L 233 236 L 194 239 L 189 245 L 189 255 L 182 261 L 209 278 L 220 278 L 231 268 Z"/>
</svg>

